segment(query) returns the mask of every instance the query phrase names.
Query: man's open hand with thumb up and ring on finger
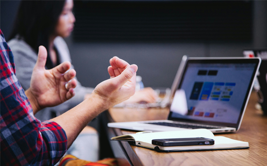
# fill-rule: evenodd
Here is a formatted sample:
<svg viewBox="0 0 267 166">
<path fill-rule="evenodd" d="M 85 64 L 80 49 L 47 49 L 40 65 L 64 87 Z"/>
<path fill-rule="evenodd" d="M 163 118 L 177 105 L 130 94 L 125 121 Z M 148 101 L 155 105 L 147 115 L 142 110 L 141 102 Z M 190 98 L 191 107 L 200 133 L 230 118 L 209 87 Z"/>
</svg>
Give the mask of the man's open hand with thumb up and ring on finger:
<svg viewBox="0 0 267 166">
<path fill-rule="evenodd" d="M 71 69 L 65 73 L 71 64 L 64 62 L 46 70 L 46 59 L 47 50 L 44 46 L 40 46 L 37 62 L 33 68 L 31 85 L 25 92 L 33 106 L 33 113 L 44 107 L 61 104 L 75 95 L 73 88 L 76 87 L 77 81 L 73 78 L 76 71 Z"/>
</svg>

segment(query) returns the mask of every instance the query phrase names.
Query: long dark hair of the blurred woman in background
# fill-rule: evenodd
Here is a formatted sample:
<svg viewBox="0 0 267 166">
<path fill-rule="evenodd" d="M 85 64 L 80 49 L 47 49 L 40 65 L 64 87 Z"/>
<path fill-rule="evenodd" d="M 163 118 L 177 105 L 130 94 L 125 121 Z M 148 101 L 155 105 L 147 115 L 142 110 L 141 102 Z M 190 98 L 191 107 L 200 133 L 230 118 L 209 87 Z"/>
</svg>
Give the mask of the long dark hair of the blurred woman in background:
<svg viewBox="0 0 267 166">
<path fill-rule="evenodd" d="M 38 47 L 43 45 L 48 50 L 46 66 L 52 68 L 49 36 L 54 33 L 64 4 L 65 0 L 21 0 L 14 27 L 8 40 L 18 34 L 36 52 L 38 52 Z"/>
</svg>

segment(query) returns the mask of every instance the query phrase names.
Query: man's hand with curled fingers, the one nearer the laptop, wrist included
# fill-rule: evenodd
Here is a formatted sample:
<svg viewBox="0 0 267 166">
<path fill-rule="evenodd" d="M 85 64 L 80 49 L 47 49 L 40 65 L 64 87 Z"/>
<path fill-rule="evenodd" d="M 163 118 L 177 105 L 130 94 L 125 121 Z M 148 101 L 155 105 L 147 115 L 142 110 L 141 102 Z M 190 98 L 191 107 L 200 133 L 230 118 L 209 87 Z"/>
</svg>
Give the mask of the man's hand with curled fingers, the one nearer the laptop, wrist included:
<svg viewBox="0 0 267 166">
<path fill-rule="evenodd" d="M 128 100 L 135 91 L 137 66 L 130 66 L 118 57 L 110 59 L 110 65 L 108 67 L 110 79 L 98 84 L 92 93 L 103 101 L 105 109 Z"/>
</svg>

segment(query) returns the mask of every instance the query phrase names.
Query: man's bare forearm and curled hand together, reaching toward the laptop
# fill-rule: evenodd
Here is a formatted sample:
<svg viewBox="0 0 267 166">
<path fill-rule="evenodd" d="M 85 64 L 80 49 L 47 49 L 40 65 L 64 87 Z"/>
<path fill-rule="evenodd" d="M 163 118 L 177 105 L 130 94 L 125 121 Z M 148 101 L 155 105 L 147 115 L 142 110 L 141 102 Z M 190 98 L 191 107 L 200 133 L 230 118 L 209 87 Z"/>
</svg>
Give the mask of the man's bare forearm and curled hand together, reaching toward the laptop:
<svg viewBox="0 0 267 166">
<path fill-rule="evenodd" d="M 118 57 L 113 57 L 110 65 L 109 80 L 98 84 L 92 94 L 76 107 L 51 119 L 65 130 L 67 147 L 93 118 L 134 95 L 137 66 L 130 66 Z"/>
</svg>

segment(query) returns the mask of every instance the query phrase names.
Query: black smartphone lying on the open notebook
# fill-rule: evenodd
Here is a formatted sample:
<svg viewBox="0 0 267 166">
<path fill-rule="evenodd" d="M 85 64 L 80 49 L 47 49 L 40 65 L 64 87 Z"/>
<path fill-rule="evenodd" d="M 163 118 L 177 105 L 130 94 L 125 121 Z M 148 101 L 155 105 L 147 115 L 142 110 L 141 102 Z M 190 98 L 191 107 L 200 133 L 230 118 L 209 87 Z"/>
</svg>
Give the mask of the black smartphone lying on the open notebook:
<svg viewBox="0 0 267 166">
<path fill-rule="evenodd" d="M 214 139 L 203 138 L 203 137 L 153 139 L 152 145 L 158 145 L 162 147 L 190 146 L 190 145 L 214 145 Z"/>
</svg>

